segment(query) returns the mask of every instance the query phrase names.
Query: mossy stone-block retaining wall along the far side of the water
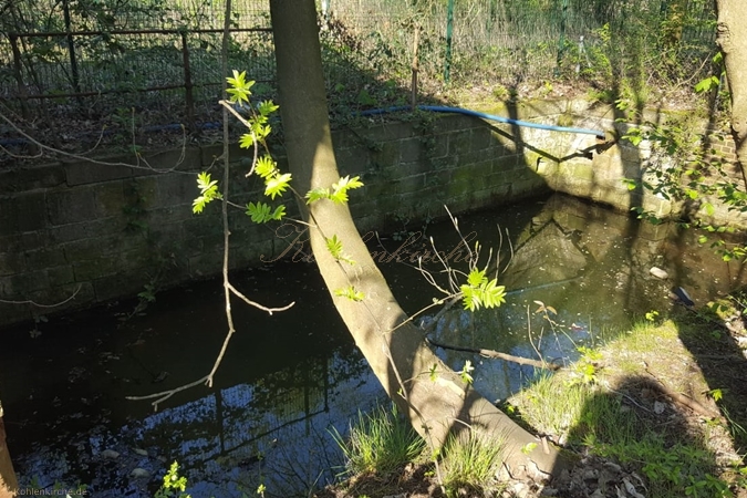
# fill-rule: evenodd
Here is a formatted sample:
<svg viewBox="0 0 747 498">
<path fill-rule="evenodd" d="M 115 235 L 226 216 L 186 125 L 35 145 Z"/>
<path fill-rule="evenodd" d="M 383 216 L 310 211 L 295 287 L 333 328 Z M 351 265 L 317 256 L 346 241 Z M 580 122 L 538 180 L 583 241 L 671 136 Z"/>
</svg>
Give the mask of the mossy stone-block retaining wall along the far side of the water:
<svg viewBox="0 0 747 498">
<path fill-rule="evenodd" d="M 436 114 L 338 132 L 341 174 L 365 184 L 351 193 L 360 230 L 442 217 L 444 205 L 458 214 L 551 190 L 619 209 L 671 209 L 621 181 L 645 173 L 645 148 L 613 139 L 621 129 L 609 107 L 543 102 L 484 111 L 600 129 L 609 141 Z M 219 206 L 196 216 L 191 201 L 197 172 L 210 168 L 214 178 L 222 178 L 220 154 L 221 147 L 211 145 L 153 154 L 128 166 L 123 163 L 132 163 L 129 157 L 110 157 L 1 170 L 0 326 L 134 297 L 146 284 L 166 288 L 217 276 Z M 283 168 L 282 151 L 276 156 Z M 231 200 L 245 205 L 261 198 L 258 180 L 245 177 L 247 152 L 232 147 L 231 158 Z M 286 200 L 292 216 L 295 205 Z M 290 226 L 255 225 L 240 209 L 229 221 L 234 269 L 278 257 L 295 236 Z"/>
</svg>

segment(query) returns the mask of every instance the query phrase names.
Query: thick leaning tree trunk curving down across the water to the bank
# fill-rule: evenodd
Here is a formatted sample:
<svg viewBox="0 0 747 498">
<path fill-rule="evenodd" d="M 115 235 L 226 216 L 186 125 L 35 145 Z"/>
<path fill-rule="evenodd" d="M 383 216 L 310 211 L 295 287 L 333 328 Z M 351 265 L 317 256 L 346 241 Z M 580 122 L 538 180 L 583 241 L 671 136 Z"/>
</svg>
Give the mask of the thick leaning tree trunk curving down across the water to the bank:
<svg viewBox="0 0 747 498">
<path fill-rule="evenodd" d="M 329 188 L 340 175 L 332 149 L 314 1 L 270 0 L 270 13 L 293 186 L 302 194 Z M 453 429 L 483 429 L 506 442 L 507 466 L 512 474 L 526 471 L 537 477 L 559 471 L 566 461 L 556 448 L 527 446 L 537 438 L 465 385 L 427 347 L 422 332 L 404 323 L 407 317 L 371 258 L 347 206 L 330 200 L 299 204 L 311 224 L 311 248 L 335 308 L 376 377 L 408 414 L 415 429 L 433 447 L 440 447 Z M 332 236 L 342 241 L 354 266 L 336 261 L 329 252 L 324 238 Z M 353 301 L 335 295 L 334 290 L 349 286 L 365 298 Z M 429 375 L 434 365 L 438 372 L 435 381 Z M 537 449 L 526 452 L 528 447 Z"/>
</svg>

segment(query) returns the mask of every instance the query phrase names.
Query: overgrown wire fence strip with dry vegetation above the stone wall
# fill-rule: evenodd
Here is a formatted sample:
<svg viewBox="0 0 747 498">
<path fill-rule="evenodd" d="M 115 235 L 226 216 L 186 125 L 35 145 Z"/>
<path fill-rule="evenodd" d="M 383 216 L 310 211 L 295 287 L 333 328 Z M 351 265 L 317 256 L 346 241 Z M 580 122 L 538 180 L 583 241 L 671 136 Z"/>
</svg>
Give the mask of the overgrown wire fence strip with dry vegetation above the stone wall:
<svg viewBox="0 0 747 498">
<path fill-rule="evenodd" d="M 217 100 L 224 1 L 0 0 L 0 105 L 64 146 L 85 137 L 205 132 Z M 322 0 L 333 116 L 436 100 L 445 89 L 511 97 L 561 80 L 624 91 L 679 84 L 715 51 L 706 0 Z M 231 11 L 229 66 L 274 93 L 267 0 Z M 616 85 L 616 86 L 615 86 Z M 623 85 L 624 86 L 624 85 Z M 0 125 L 0 139 L 18 139 Z M 139 139 L 139 138 L 138 138 Z"/>
</svg>

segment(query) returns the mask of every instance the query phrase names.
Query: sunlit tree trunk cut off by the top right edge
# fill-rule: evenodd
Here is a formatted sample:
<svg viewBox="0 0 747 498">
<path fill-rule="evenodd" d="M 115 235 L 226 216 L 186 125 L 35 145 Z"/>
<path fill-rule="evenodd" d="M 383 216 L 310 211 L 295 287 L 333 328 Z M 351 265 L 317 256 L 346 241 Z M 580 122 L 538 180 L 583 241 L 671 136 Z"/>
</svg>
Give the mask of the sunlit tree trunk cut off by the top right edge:
<svg viewBox="0 0 747 498">
<path fill-rule="evenodd" d="M 747 2 L 716 0 L 718 37 L 732 93 L 732 135 L 741 170 L 747 169 Z"/>
</svg>

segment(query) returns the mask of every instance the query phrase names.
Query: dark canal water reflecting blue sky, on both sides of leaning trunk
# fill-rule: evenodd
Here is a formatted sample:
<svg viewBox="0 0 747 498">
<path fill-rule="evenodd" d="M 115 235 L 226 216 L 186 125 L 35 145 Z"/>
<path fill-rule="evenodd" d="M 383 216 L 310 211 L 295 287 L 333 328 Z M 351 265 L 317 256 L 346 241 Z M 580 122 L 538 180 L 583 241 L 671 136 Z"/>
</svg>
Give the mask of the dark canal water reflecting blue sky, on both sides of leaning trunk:
<svg viewBox="0 0 747 498">
<path fill-rule="evenodd" d="M 696 234 L 651 226 L 563 196 L 504 206 L 458 219 L 461 238 L 481 243 L 480 264 L 506 286 L 506 303 L 475 314 L 454 307 L 418 317 L 438 342 L 553 362 L 581 345 L 612 338 L 646 312 L 677 304 L 673 288 L 696 304 L 744 283 Z M 405 311 L 443 294 L 416 268 L 416 257 L 456 253 L 450 221 L 402 224 L 369 237 Z M 425 235 L 425 236 L 424 236 Z M 395 257 L 383 258 L 383 251 Z M 466 270 L 464 261 L 450 261 Z M 666 280 L 651 274 L 657 267 Z M 443 268 L 425 270 L 445 284 Z M 127 401 L 193 382 L 209 372 L 226 333 L 219 281 L 159 292 L 143 313 L 136 302 L 2 331 L 0 398 L 8 445 L 24 486 L 89 486 L 89 496 L 149 497 L 177 460 L 194 498 L 308 496 L 343 464 L 330 435 L 385 395 L 336 314 L 315 267 L 281 262 L 232 274 L 236 287 L 270 307 L 269 317 L 234 303 L 237 334 L 212 387 L 180 392 L 157 412 Z M 538 311 L 544 305 L 547 312 Z M 498 360 L 438 350 L 453 367 L 476 365 L 475 386 L 490 401 L 531 382 L 535 372 Z"/>
</svg>

